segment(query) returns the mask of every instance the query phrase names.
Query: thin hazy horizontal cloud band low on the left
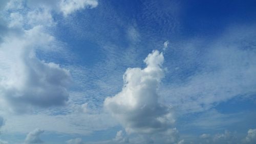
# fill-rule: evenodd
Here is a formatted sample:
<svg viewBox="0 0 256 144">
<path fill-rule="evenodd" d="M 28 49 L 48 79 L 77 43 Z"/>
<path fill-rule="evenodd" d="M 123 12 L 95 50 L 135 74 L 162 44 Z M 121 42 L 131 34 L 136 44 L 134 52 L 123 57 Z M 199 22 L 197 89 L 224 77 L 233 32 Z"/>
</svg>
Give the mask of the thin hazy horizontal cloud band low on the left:
<svg viewBox="0 0 256 144">
<path fill-rule="evenodd" d="M 71 113 L 67 115 L 48 115 L 46 112 L 42 113 L 44 114 L 6 114 L 4 117 L 7 120 L 1 128 L 2 132 L 10 134 L 28 133 L 35 128 L 39 128 L 49 132 L 89 135 L 93 131 L 106 130 L 117 125 L 115 119 L 104 113 Z"/>
</svg>

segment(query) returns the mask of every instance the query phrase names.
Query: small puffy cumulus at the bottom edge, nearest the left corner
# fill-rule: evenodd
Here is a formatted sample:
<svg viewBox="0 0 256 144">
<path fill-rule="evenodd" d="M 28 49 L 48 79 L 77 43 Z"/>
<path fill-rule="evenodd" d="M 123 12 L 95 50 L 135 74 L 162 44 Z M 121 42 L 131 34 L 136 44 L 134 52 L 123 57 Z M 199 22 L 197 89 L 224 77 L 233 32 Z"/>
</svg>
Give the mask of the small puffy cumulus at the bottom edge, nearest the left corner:
<svg viewBox="0 0 256 144">
<path fill-rule="evenodd" d="M 25 143 L 42 143 L 43 141 L 39 137 L 42 133 L 44 133 L 44 130 L 35 129 L 27 135 Z"/>
</svg>

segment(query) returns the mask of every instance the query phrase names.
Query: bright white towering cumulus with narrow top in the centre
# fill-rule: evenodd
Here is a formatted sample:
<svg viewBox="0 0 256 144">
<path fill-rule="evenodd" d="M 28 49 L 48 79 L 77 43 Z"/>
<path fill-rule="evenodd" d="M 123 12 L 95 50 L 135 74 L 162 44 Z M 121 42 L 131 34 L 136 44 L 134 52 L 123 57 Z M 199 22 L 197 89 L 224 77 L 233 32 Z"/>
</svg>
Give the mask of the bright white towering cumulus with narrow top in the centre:
<svg viewBox="0 0 256 144">
<path fill-rule="evenodd" d="M 128 133 L 173 133 L 170 109 L 158 102 L 158 86 L 164 77 L 163 54 L 155 50 L 144 59 L 146 68 L 128 68 L 122 91 L 107 97 L 104 107 L 119 120 Z"/>
</svg>

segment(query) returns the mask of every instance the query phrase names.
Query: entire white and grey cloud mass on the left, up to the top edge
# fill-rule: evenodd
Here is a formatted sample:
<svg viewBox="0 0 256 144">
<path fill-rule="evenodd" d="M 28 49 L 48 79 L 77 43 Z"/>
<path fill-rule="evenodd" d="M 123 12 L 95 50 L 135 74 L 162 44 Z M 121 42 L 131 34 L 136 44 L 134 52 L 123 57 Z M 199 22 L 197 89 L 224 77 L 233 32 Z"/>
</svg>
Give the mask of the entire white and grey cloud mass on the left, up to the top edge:
<svg viewBox="0 0 256 144">
<path fill-rule="evenodd" d="M 25 112 L 33 106 L 65 105 L 71 75 L 58 64 L 45 62 L 37 51 L 59 49 L 59 42 L 46 30 L 56 22 L 53 12 L 67 15 L 94 8 L 97 1 L 8 1 L 1 20 L 7 31 L 0 45 L 0 108 Z M 12 29 L 13 32 L 9 32 Z"/>
</svg>

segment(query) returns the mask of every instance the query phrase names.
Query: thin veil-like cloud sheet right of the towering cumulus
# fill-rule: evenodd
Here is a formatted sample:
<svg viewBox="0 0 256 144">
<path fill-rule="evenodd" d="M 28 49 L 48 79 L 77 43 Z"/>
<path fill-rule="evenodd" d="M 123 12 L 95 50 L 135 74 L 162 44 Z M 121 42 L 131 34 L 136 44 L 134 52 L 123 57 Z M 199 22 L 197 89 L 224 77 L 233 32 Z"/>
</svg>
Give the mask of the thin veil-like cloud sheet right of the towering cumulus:
<svg viewBox="0 0 256 144">
<path fill-rule="evenodd" d="M 163 85 L 161 101 L 172 104 L 180 113 L 191 113 L 209 110 L 237 96 L 255 94 L 256 41 L 253 37 L 255 26 L 234 27 L 206 45 L 205 53 L 201 53 L 200 45 L 194 44 L 196 40 L 182 45 L 180 57 L 185 59 L 177 57 L 177 63 L 182 61 L 182 65 L 176 65 L 179 70 L 168 75 L 182 82 L 168 81 Z M 192 70 L 187 68 L 190 66 Z"/>
</svg>

